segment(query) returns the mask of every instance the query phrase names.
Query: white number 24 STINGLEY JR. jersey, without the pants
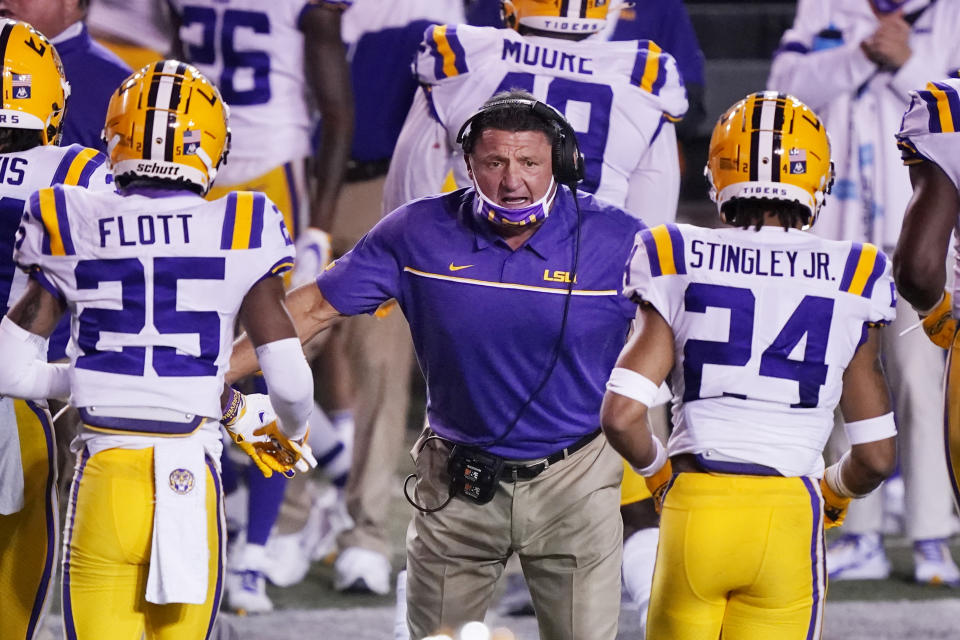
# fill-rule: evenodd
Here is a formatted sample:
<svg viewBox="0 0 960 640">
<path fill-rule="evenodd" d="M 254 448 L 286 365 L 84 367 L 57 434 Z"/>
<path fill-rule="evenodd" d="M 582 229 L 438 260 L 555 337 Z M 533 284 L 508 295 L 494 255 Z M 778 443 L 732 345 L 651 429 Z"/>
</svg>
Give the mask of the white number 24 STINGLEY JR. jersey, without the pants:
<svg viewBox="0 0 960 640">
<path fill-rule="evenodd" d="M 671 455 L 819 475 L 843 372 L 896 315 L 890 270 L 871 244 L 782 227 L 637 234 L 624 295 L 676 340 Z"/>
</svg>

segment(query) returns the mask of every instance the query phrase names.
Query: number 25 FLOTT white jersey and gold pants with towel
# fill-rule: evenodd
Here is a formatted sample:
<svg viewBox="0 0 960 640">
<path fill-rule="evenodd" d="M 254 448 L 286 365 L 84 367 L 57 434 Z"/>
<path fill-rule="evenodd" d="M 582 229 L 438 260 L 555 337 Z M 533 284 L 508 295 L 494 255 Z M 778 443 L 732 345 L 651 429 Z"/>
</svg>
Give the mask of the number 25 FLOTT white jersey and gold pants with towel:
<svg viewBox="0 0 960 640">
<path fill-rule="evenodd" d="M 20 233 L 17 264 L 73 317 L 70 402 L 84 429 L 64 536 L 66 637 L 208 637 L 223 569 L 219 397 L 244 296 L 292 267 L 282 215 L 250 192 L 208 202 L 58 186 L 30 197 Z M 182 464 L 155 478 L 171 454 Z M 178 524 L 164 526 L 171 509 Z M 155 572 L 170 577 L 157 550 L 177 535 L 200 541 L 186 575 L 199 595 L 166 594 L 162 581 L 151 595 Z"/>
</svg>

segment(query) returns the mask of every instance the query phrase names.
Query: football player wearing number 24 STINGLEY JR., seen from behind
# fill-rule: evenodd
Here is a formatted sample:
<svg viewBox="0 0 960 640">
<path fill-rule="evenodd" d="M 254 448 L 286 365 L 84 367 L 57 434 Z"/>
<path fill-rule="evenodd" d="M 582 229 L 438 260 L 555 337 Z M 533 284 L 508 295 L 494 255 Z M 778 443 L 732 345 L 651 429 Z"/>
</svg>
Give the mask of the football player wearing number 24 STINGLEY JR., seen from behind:
<svg viewBox="0 0 960 640">
<path fill-rule="evenodd" d="M 818 638 L 824 528 L 896 461 L 878 358 L 895 315 L 890 264 L 873 245 L 803 231 L 830 190 L 830 144 L 792 96 L 733 105 L 706 173 L 734 228 L 637 235 L 624 294 L 640 326 L 601 410 L 610 442 L 662 505 L 647 634 Z M 667 377 L 664 447 L 646 414 Z M 852 447 L 824 469 L 838 402 Z"/>
</svg>

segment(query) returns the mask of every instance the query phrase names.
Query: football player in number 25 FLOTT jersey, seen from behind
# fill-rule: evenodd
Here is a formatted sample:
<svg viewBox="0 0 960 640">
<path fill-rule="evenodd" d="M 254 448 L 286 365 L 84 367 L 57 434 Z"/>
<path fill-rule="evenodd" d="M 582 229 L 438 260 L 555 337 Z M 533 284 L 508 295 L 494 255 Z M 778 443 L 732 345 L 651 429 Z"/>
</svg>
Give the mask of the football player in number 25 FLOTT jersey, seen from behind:
<svg viewBox="0 0 960 640">
<path fill-rule="evenodd" d="M 223 584 L 218 421 L 236 319 L 259 345 L 278 416 L 261 439 L 279 443 L 288 466 L 306 446 L 313 384 L 277 277 L 293 265 L 292 241 L 263 194 L 203 199 L 229 129 L 194 67 L 166 60 L 130 76 L 104 138 L 118 192 L 29 197 L 14 259 L 30 281 L 0 324 L 0 393 L 69 396 L 83 418 L 66 635 L 205 638 Z M 70 364 L 47 364 L 44 338 L 64 313 Z M 232 423 L 243 414 L 229 398 Z"/>
</svg>

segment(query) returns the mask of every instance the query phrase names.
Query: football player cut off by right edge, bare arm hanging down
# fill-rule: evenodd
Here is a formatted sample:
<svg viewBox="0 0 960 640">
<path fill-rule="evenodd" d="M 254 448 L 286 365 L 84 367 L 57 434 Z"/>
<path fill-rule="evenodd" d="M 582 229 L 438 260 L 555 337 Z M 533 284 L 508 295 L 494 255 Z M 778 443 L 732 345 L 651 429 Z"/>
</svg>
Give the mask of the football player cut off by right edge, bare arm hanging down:
<svg viewBox="0 0 960 640">
<path fill-rule="evenodd" d="M 947 464 L 960 504 L 960 343 L 955 337 L 960 258 L 954 260 L 952 294 L 944 289 L 950 235 L 960 225 L 960 80 L 930 82 L 910 96 L 897 141 L 910 168 L 913 198 L 903 218 L 893 270 L 897 289 L 923 318 L 927 335 L 948 350 Z"/>
</svg>

